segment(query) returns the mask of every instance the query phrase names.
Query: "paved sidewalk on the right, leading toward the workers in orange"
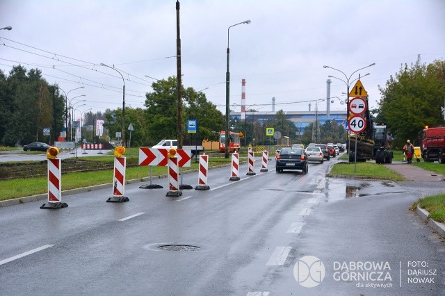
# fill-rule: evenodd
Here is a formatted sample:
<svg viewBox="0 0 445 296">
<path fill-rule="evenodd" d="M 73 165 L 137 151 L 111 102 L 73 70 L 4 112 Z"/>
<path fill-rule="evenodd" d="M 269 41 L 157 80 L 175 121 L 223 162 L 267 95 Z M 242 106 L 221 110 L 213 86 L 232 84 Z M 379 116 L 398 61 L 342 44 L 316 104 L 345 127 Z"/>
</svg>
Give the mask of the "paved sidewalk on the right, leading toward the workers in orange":
<svg viewBox="0 0 445 296">
<path fill-rule="evenodd" d="M 442 174 L 437 174 L 435 172 L 430 172 L 423 170 L 420 167 L 414 165 L 409 165 L 402 161 L 394 161 L 391 164 L 383 165 L 389 170 L 397 172 L 401 176 L 405 177 L 408 181 L 421 181 L 421 182 L 444 182 L 445 176 Z"/>
</svg>

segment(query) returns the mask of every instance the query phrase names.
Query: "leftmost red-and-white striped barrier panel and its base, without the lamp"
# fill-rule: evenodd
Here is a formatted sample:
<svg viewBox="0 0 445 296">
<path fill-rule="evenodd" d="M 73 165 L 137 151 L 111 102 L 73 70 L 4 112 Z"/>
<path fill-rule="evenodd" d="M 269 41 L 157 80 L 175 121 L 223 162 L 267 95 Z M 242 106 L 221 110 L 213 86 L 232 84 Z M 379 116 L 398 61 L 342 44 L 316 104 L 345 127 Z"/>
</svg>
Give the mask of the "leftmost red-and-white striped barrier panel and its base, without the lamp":
<svg viewBox="0 0 445 296">
<path fill-rule="evenodd" d="M 40 208 L 65 208 L 62 199 L 62 161 L 60 158 L 48 159 L 48 203 Z"/>
</svg>

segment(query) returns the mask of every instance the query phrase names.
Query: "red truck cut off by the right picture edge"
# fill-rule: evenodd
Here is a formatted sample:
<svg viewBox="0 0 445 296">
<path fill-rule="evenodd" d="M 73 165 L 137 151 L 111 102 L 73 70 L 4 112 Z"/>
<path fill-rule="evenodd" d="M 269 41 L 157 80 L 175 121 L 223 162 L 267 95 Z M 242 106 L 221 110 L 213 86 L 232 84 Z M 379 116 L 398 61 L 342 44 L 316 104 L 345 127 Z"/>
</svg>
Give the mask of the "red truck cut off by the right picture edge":
<svg viewBox="0 0 445 296">
<path fill-rule="evenodd" d="M 419 133 L 422 158 L 426 162 L 445 163 L 445 127 L 428 127 Z"/>
</svg>

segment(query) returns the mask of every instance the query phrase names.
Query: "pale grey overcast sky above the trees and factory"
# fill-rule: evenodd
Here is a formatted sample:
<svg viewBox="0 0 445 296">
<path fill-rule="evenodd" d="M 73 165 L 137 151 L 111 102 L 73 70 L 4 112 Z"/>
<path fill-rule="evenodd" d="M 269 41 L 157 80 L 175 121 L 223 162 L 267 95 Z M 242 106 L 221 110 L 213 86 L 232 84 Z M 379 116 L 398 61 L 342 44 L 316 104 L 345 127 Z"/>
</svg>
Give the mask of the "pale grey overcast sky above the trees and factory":
<svg viewBox="0 0 445 296">
<path fill-rule="evenodd" d="M 354 74 L 371 108 L 401 65 L 445 59 L 444 0 L 182 0 L 181 68 L 184 87 L 202 90 L 225 113 L 227 28 L 230 28 L 230 104 L 262 112 L 326 110 L 329 75 Z M 177 75 L 175 0 L 0 0 L 0 69 L 38 68 L 58 83 L 80 111 L 143 107 L 154 79 Z M 148 78 L 149 76 L 151 78 Z M 354 83 L 353 83 L 354 84 Z M 346 98 L 332 79 L 331 97 Z M 86 97 L 77 97 L 85 94 Z M 86 104 L 85 106 L 81 106 Z M 236 104 L 236 105 L 234 105 Z M 334 98 L 331 110 L 346 110 Z"/>
</svg>

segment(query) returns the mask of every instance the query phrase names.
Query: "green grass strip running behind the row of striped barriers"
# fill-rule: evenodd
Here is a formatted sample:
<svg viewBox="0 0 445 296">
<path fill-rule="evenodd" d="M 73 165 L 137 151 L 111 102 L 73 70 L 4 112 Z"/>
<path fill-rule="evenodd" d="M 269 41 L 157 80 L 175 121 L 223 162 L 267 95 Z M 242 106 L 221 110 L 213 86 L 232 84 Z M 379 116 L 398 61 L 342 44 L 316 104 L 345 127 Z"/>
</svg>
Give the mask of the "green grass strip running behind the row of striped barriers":
<svg viewBox="0 0 445 296">
<path fill-rule="evenodd" d="M 129 158 L 131 159 L 133 158 L 133 156 L 131 156 L 130 154 L 130 156 L 127 157 L 127 163 L 129 163 Z M 92 158 L 96 158 L 96 156 L 88 156 L 81 159 L 92 161 Z M 110 161 L 111 163 L 113 163 L 113 156 L 97 156 L 97 158 L 99 158 L 97 161 Z M 209 167 L 229 164 L 231 161 L 231 158 L 209 158 Z M 195 163 L 195 161 L 192 161 L 191 167 L 182 167 L 182 171 L 185 172 L 187 170 L 196 170 L 198 165 L 199 163 Z M 152 167 L 153 176 L 167 174 L 167 172 L 167 167 Z M 127 167 L 127 169 L 125 170 L 125 179 L 142 180 L 143 178 L 147 178 L 149 174 L 149 167 L 136 165 L 133 167 Z M 112 182 L 113 170 L 99 170 L 95 172 L 72 172 L 69 174 L 62 174 L 62 190 L 83 188 Z M 31 195 L 40 195 L 48 192 L 47 177 L 44 176 L 38 178 L 0 181 L 0 188 L 2 193 L 0 196 L 0 200 L 26 197 Z"/>
</svg>

